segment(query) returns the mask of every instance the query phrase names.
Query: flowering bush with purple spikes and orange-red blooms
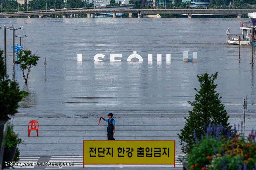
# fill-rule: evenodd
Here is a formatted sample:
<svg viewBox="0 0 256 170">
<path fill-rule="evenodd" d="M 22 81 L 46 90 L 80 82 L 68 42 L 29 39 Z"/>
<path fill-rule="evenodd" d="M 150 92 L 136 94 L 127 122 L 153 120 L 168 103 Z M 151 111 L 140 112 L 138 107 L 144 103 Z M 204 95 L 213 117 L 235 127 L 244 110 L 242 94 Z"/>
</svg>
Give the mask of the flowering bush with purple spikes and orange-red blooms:
<svg viewBox="0 0 256 170">
<path fill-rule="evenodd" d="M 187 155 L 188 168 L 195 170 L 256 170 L 256 142 L 255 133 L 251 132 L 247 140 L 235 129 L 227 133 L 218 133 L 215 129 L 220 127 L 208 126 L 204 137 L 198 141 L 195 135 L 196 144 Z M 225 127 L 223 127 L 222 131 Z M 211 132 L 212 131 L 212 132 Z M 215 131 L 215 132 L 214 132 Z M 220 135 L 220 134 L 224 135 Z"/>
</svg>

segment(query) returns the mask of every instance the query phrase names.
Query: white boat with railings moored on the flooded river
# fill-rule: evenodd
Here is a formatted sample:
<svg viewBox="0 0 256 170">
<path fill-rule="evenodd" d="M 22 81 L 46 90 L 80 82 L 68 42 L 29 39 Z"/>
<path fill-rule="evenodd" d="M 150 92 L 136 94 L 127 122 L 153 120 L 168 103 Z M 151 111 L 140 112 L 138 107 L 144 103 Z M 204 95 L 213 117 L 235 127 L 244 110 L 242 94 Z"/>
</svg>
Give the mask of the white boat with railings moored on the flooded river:
<svg viewBox="0 0 256 170">
<path fill-rule="evenodd" d="M 249 22 L 240 22 L 240 29 L 242 29 L 242 35 L 230 34 L 230 28 L 226 31 L 228 44 L 239 44 L 239 36 L 241 37 L 241 45 L 249 45 L 252 42 L 252 28 L 256 26 L 256 12 L 248 13 Z M 255 33 L 254 33 L 255 37 Z M 254 41 L 255 42 L 255 41 Z"/>
</svg>

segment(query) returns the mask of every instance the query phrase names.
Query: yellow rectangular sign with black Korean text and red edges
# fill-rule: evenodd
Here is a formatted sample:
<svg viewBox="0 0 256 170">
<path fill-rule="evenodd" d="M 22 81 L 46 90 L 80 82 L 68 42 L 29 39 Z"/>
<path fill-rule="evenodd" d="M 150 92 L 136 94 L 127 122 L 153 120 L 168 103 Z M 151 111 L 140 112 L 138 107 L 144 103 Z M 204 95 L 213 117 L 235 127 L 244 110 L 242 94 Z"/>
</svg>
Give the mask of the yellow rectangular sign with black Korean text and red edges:
<svg viewBox="0 0 256 170">
<path fill-rule="evenodd" d="M 84 164 L 174 164 L 175 141 L 84 140 Z"/>
</svg>

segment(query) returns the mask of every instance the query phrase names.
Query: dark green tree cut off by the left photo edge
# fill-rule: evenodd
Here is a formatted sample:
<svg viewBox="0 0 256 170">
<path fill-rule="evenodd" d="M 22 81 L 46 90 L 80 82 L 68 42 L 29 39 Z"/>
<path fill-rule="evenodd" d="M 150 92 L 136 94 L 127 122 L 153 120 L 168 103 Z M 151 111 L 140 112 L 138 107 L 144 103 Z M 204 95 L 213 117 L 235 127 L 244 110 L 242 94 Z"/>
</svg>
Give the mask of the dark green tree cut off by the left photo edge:
<svg viewBox="0 0 256 170">
<path fill-rule="evenodd" d="M 18 102 L 22 99 L 18 83 L 5 75 L 3 51 L 0 50 L 0 120 L 10 119 L 17 113 Z"/>
</svg>

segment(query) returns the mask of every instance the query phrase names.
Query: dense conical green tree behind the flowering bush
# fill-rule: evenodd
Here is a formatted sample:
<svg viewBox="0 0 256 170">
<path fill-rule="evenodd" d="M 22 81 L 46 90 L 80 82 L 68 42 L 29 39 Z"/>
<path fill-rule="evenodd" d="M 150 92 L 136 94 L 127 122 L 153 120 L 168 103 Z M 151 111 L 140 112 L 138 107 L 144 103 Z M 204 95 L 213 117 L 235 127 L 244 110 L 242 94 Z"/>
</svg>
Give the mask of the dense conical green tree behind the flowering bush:
<svg viewBox="0 0 256 170">
<path fill-rule="evenodd" d="M 189 116 L 186 119 L 184 129 L 178 134 L 180 138 L 181 151 L 188 154 L 195 144 L 195 137 L 201 139 L 204 134 L 205 126 L 216 124 L 229 128 L 227 112 L 225 106 L 221 104 L 220 94 L 215 91 L 217 84 L 214 80 L 217 78 L 218 72 L 209 76 L 207 73 L 197 76 L 201 89 L 198 91 L 196 88 L 195 101 L 188 101 L 194 108 L 189 111 Z M 194 130 L 196 134 L 194 134 Z"/>
</svg>

